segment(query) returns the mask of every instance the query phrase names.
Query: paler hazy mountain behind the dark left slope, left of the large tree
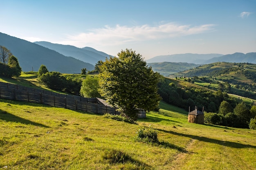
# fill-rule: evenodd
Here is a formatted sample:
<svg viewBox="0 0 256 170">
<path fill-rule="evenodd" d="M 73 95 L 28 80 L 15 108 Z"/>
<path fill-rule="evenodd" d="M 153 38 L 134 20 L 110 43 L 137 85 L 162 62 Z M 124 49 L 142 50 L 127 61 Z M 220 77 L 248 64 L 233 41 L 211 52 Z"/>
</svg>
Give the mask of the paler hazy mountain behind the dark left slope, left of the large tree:
<svg viewBox="0 0 256 170">
<path fill-rule="evenodd" d="M 95 65 L 99 60 L 105 61 L 106 57 L 109 57 L 108 54 L 90 47 L 77 48 L 75 46 L 53 44 L 46 41 L 37 41 L 34 43 L 55 50 L 65 56 L 74 57 L 75 59 L 79 59 L 86 63 L 91 63 L 92 65 Z"/>
</svg>

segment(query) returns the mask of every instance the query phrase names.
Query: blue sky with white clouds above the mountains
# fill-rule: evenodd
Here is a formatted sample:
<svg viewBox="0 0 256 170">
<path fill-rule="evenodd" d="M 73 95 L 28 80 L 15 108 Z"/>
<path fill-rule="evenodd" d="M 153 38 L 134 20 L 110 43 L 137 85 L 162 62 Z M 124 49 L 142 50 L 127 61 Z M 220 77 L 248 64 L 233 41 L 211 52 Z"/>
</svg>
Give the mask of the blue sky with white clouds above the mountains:
<svg viewBox="0 0 256 170">
<path fill-rule="evenodd" d="M 0 32 L 146 59 L 256 52 L 256 0 L 0 0 Z"/>
</svg>

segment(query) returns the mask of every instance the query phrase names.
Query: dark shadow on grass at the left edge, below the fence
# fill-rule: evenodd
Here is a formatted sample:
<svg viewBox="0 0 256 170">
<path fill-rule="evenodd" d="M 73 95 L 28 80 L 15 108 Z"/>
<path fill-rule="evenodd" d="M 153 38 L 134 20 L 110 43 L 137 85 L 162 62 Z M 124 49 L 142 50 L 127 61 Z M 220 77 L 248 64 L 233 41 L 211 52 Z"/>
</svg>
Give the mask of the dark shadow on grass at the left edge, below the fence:
<svg viewBox="0 0 256 170">
<path fill-rule="evenodd" d="M 8 113 L 7 111 L 2 111 L 0 109 L 0 119 L 7 121 L 7 122 L 20 122 L 22 124 L 31 124 L 34 126 L 41 126 L 41 127 L 45 127 L 45 128 L 49 128 L 49 126 L 46 126 L 44 124 L 40 124 L 40 123 L 36 123 L 36 122 L 32 122 L 30 120 L 24 119 L 24 118 L 20 118 L 19 116 L 15 116 L 11 113 Z"/>
</svg>

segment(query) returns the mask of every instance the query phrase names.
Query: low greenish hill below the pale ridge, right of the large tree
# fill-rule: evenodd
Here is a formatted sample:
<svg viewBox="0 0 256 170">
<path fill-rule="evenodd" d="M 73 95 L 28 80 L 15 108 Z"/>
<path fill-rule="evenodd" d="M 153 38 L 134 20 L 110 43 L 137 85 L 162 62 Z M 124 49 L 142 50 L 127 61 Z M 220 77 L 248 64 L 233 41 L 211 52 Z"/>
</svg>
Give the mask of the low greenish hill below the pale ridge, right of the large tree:
<svg viewBox="0 0 256 170">
<path fill-rule="evenodd" d="M 152 70 L 159 72 L 163 76 L 168 76 L 177 72 L 182 72 L 184 70 L 189 70 L 191 68 L 198 67 L 199 64 L 193 63 L 172 63 L 172 62 L 162 62 L 162 63 L 148 63 L 152 67 Z"/>
</svg>

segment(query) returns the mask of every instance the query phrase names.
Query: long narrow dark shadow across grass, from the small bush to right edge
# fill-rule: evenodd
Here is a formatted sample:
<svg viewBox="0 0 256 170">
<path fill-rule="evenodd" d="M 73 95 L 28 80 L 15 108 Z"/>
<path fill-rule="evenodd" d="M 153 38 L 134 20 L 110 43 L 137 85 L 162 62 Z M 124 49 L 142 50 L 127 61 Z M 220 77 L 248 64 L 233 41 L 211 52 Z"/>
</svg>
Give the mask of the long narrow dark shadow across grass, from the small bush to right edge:
<svg viewBox="0 0 256 170">
<path fill-rule="evenodd" d="M 166 130 L 163 130 L 163 129 L 157 129 L 157 130 L 165 132 L 165 133 L 170 133 L 170 134 L 173 134 L 173 135 L 190 137 L 192 139 L 197 139 L 197 140 L 203 141 L 203 142 L 219 144 L 219 145 L 227 146 L 227 147 L 230 147 L 230 148 L 256 148 L 256 146 L 253 146 L 253 145 L 245 145 L 245 144 L 239 144 L 239 143 L 236 143 L 236 142 L 229 142 L 229 141 L 222 141 L 222 140 L 218 140 L 218 139 L 211 139 L 211 138 L 208 138 L 208 137 L 200 137 L 200 136 L 195 136 L 195 135 L 188 135 L 188 134 L 184 134 L 184 133 L 177 133 L 177 132 L 173 132 L 173 131 L 166 131 Z"/>
</svg>

